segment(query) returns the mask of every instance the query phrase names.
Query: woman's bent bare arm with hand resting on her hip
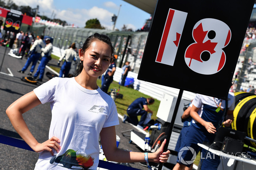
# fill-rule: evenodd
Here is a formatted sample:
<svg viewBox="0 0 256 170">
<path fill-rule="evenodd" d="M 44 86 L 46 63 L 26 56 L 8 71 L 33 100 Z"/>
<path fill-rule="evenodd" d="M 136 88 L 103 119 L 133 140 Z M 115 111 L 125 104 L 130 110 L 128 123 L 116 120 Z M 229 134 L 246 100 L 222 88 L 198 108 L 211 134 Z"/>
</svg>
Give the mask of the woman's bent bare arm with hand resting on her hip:
<svg viewBox="0 0 256 170">
<path fill-rule="evenodd" d="M 26 122 L 23 119 L 22 114 L 27 112 L 28 110 L 36 107 L 37 105 L 41 104 L 41 101 L 36 97 L 34 91 L 25 94 L 24 96 L 20 97 L 18 100 L 13 102 L 7 109 L 6 114 L 9 117 L 12 126 L 18 132 L 20 137 L 35 151 L 35 152 L 42 152 L 42 151 L 49 151 L 52 153 L 52 149 L 55 149 L 57 152 L 60 150 L 60 145 L 57 143 L 60 140 L 56 137 L 52 137 L 51 139 L 45 141 L 44 143 L 40 144 L 37 142 L 35 137 L 29 131 Z"/>
</svg>

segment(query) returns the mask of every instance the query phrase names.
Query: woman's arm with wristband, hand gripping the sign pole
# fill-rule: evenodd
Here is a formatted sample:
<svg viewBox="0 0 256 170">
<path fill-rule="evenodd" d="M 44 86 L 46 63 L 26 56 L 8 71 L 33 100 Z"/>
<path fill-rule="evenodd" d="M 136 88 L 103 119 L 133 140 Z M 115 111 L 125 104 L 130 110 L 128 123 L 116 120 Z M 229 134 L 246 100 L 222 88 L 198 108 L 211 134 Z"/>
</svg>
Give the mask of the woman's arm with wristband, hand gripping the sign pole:
<svg viewBox="0 0 256 170">
<path fill-rule="evenodd" d="M 118 149 L 116 147 L 116 129 L 115 126 L 102 128 L 100 132 L 100 141 L 103 152 L 109 161 L 115 162 L 144 162 L 143 152 L 129 152 Z M 164 144 L 166 139 L 162 143 L 161 147 L 154 153 L 148 153 L 148 161 L 150 162 L 162 162 L 165 163 L 168 160 L 170 151 L 164 152 Z"/>
</svg>

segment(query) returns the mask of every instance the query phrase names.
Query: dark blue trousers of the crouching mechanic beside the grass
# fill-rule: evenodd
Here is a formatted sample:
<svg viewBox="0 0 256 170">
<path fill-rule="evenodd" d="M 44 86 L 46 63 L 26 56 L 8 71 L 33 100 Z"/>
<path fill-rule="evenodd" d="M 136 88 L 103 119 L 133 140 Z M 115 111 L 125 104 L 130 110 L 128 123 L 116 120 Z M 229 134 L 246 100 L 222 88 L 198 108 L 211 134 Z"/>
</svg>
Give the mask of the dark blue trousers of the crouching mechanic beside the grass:
<svg viewBox="0 0 256 170">
<path fill-rule="evenodd" d="M 142 109 L 127 109 L 127 114 L 129 117 L 127 117 L 126 121 L 129 123 L 134 124 L 135 126 L 140 125 L 143 127 L 143 122 L 147 118 L 148 112 L 146 110 Z M 138 121 L 137 116 L 141 115 L 140 122 Z"/>
</svg>

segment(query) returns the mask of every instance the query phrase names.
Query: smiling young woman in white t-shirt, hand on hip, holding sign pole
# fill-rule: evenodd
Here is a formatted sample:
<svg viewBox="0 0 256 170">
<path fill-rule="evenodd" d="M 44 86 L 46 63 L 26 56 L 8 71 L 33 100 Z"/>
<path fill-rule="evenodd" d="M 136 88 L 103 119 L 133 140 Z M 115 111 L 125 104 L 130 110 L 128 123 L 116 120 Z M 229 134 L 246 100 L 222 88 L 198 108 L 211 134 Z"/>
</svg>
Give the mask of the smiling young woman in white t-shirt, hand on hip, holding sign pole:
<svg viewBox="0 0 256 170">
<path fill-rule="evenodd" d="M 119 124 L 116 105 L 98 87 L 97 78 L 109 66 L 114 48 L 106 35 L 95 33 L 79 49 L 80 70 L 73 78 L 52 78 L 12 103 L 6 110 L 14 129 L 35 151 L 35 169 L 97 169 L 99 143 L 106 158 L 115 162 L 143 162 L 144 153 L 127 152 L 116 147 L 115 125 Z M 39 104 L 51 103 L 49 139 L 38 143 L 22 114 Z M 164 144 L 148 160 L 165 163 L 170 151 Z"/>
</svg>

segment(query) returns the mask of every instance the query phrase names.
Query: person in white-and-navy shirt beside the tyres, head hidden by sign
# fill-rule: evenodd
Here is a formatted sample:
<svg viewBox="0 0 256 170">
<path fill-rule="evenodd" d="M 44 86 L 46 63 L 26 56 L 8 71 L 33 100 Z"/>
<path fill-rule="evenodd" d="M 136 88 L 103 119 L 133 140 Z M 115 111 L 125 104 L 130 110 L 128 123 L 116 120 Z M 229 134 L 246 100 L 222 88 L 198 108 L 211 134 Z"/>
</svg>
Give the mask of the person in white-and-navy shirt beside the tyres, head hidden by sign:
<svg viewBox="0 0 256 170">
<path fill-rule="evenodd" d="M 211 144 L 214 140 L 215 132 L 218 130 L 221 123 L 226 127 L 231 125 L 233 121 L 233 110 L 235 108 L 234 100 L 235 96 L 232 92 L 228 93 L 228 100 L 226 100 L 226 102 L 222 99 L 196 94 L 195 99 L 192 101 L 193 106 L 190 111 L 190 116 L 193 120 L 186 133 L 185 142 L 182 143 L 180 148 L 191 147 L 195 150 L 197 155 L 201 149 L 197 143 L 202 144 L 203 142 L 208 142 Z M 226 121 L 223 122 L 226 105 L 228 110 Z M 202 110 L 198 112 L 200 108 Z M 202 156 L 207 155 L 206 158 L 208 158 L 201 159 L 201 169 L 217 170 L 220 164 L 220 158 L 217 155 L 213 155 L 211 152 L 206 154 L 207 151 L 205 149 L 202 149 L 201 152 Z M 190 167 L 194 159 L 193 156 L 194 154 L 190 150 L 183 151 L 181 155 L 178 156 L 177 164 L 174 166 L 173 170 L 183 170 L 186 166 Z"/>
</svg>

